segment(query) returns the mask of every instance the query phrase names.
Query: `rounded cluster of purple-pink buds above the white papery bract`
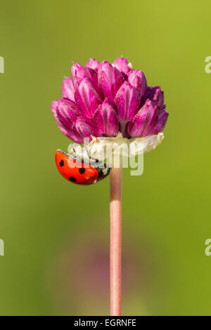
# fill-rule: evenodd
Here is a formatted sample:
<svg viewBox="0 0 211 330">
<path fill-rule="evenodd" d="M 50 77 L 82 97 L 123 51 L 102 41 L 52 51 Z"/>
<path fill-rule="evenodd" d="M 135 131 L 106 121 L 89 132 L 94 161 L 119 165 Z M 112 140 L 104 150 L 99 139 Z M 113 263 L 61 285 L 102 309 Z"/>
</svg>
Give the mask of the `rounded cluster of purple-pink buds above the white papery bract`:
<svg viewBox="0 0 211 330">
<path fill-rule="evenodd" d="M 52 102 L 58 128 L 77 143 L 84 138 L 124 138 L 157 135 L 167 122 L 160 86 L 148 86 L 141 70 L 127 58 L 113 65 L 91 58 L 84 67 L 75 63 L 72 78 L 65 77 L 62 98 Z"/>
</svg>

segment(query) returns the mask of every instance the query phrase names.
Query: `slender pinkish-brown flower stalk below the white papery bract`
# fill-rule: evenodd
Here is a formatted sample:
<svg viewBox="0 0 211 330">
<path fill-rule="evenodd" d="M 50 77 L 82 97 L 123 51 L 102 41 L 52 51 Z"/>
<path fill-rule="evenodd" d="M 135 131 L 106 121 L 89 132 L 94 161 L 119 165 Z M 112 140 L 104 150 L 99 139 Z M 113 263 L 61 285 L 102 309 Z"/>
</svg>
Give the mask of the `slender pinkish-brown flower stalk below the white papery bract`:
<svg viewBox="0 0 211 330">
<path fill-rule="evenodd" d="M 122 308 L 122 168 L 110 173 L 110 315 Z"/>
</svg>

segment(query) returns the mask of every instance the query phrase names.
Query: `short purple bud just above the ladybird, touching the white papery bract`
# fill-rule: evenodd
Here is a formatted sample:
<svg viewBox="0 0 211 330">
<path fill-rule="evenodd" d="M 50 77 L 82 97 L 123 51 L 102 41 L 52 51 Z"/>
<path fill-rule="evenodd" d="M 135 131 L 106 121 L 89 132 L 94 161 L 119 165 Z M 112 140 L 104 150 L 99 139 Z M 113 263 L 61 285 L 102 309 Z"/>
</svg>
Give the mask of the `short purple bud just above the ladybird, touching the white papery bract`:
<svg viewBox="0 0 211 330">
<path fill-rule="evenodd" d="M 91 119 L 79 117 L 73 125 L 75 133 L 81 138 L 90 138 L 91 136 L 101 136 Z"/>
</svg>

